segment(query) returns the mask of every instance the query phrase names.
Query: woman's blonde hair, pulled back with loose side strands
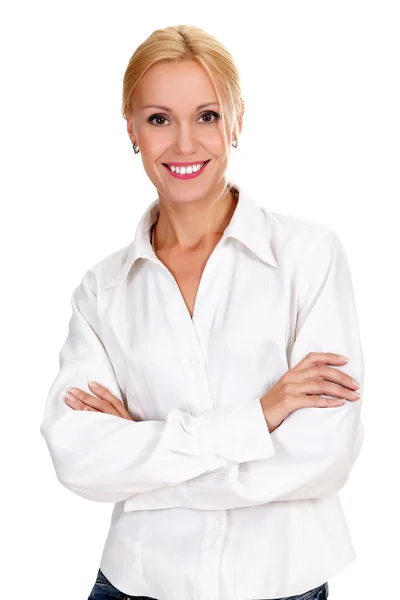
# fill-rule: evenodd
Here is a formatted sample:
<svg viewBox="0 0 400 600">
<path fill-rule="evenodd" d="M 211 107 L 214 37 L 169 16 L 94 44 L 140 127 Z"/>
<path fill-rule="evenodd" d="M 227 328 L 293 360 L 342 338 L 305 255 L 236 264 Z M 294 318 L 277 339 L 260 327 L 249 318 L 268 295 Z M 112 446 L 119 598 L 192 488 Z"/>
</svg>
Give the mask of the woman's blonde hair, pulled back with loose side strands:
<svg viewBox="0 0 400 600">
<path fill-rule="evenodd" d="M 122 114 L 132 114 L 132 95 L 146 71 L 157 63 L 197 61 L 208 74 L 220 105 L 225 156 L 228 130 L 239 137 L 239 119 L 244 109 L 240 77 L 228 50 L 212 35 L 194 25 L 156 29 L 133 53 L 123 79 Z"/>
</svg>

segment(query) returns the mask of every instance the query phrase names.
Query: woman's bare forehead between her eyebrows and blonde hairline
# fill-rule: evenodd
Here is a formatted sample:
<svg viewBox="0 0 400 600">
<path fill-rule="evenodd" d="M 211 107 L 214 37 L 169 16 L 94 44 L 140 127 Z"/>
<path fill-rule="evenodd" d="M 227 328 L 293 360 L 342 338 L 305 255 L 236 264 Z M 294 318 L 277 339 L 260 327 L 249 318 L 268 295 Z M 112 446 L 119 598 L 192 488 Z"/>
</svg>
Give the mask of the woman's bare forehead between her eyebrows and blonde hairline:
<svg viewBox="0 0 400 600">
<path fill-rule="evenodd" d="M 140 80 L 132 100 L 137 108 L 145 104 L 184 108 L 189 103 L 197 106 L 218 101 L 207 73 L 195 61 L 153 65 Z"/>
</svg>

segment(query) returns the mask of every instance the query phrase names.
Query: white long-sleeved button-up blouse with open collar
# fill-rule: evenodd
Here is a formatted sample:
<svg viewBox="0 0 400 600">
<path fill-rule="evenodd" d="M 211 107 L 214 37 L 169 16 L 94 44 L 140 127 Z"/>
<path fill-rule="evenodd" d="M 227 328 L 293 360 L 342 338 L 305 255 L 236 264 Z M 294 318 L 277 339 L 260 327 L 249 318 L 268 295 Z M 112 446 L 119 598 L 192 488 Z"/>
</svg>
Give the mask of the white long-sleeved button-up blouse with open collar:
<svg viewBox="0 0 400 600">
<path fill-rule="evenodd" d="M 355 558 L 338 491 L 364 437 L 364 359 L 345 251 L 235 185 L 193 319 L 151 245 L 158 198 L 72 294 L 40 432 L 62 485 L 115 503 L 100 567 L 126 594 L 284 598 Z M 309 352 L 347 356 L 337 368 L 361 399 L 298 409 L 270 433 L 260 398 Z M 90 380 L 134 421 L 69 407 Z"/>
</svg>

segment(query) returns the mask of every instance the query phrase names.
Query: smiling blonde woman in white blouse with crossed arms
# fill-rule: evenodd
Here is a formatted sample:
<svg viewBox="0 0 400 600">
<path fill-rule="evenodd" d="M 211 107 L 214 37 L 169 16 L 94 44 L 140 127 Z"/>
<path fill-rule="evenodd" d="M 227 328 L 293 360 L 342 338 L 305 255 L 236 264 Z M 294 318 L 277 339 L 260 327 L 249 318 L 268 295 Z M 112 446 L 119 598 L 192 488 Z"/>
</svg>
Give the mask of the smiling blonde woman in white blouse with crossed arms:
<svg viewBox="0 0 400 600">
<path fill-rule="evenodd" d="M 115 503 L 90 600 L 323 600 L 355 557 L 337 495 L 363 439 L 345 252 L 226 181 L 243 112 L 201 29 L 157 30 L 128 64 L 123 114 L 158 197 L 74 290 L 41 425 L 61 483 Z"/>
</svg>

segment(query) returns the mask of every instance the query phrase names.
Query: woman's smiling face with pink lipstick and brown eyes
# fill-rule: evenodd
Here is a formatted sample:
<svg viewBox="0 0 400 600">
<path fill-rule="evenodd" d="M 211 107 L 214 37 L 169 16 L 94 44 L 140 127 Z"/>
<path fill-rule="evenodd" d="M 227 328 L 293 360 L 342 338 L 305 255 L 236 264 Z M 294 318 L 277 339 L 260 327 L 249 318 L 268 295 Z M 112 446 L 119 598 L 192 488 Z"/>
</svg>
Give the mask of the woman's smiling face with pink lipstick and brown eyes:
<svg viewBox="0 0 400 600">
<path fill-rule="evenodd" d="M 223 189 L 227 160 L 220 107 L 196 62 L 153 65 L 134 92 L 127 129 L 160 197 L 193 202 Z M 230 151 L 231 131 L 227 140 Z M 170 168 L 181 163 L 195 165 L 192 173 Z"/>
</svg>

